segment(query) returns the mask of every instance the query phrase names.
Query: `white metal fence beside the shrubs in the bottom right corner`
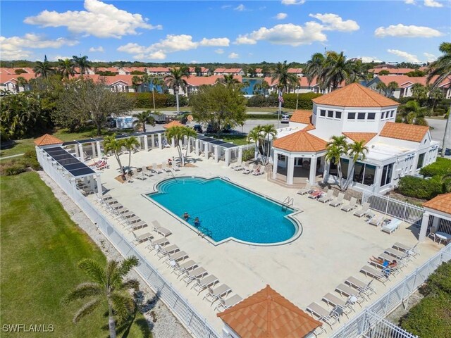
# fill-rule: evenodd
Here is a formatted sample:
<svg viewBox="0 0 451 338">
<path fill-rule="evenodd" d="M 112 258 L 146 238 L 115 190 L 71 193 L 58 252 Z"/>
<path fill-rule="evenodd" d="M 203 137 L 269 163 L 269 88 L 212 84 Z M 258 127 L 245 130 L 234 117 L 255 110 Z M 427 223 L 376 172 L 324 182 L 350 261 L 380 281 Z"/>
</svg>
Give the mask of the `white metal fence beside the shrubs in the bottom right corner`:
<svg viewBox="0 0 451 338">
<path fill-rule="evenodd" d="M 381 337 L 381 338 L 412 338 L 415 337 L 409 332 L 402 330 L 397 325 L 385 320 L 387 315 L 395 310 L 400 304 L 406 306 L 409 297 L 426 282 L 429 275 L 438 266 L 451 260 L 451 244 L 445 246 L 438 253 L 430 258 L 426 263 L 417 268 L 413 273 L 404 278 L 400 283 L 388 290 L 378 300 L 368 306 L 365 311 L 352 318 L 340 329 L 336 330 L 330 338 L 360 338 L 360 337 Z M 373 334 L 373 330 L 382 332 L 381 335 Z"/>
</svg>

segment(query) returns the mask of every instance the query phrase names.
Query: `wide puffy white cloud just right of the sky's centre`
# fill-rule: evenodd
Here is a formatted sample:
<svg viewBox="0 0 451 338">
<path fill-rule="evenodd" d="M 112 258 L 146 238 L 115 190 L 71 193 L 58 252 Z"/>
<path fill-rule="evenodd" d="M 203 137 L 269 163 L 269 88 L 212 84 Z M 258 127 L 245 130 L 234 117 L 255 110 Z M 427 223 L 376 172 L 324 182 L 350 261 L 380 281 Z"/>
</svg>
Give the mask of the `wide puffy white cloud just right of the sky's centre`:
<svg viewBox="0 0 451 338">
<path fill-rule="evenodd" d="M 235 44 L 257 44 L 259 40 L 268 41 L 271 44 L 289 44 L 291 46 L 311 44 L 316 41 L 324 42 L 327 37 L 322 30 L 323 26 L 314 22 L 305 23 L 304 26 L 287 23 L 272 28 L 261 27 L 250 34 L 240 35 L 235 40 Z"/>
</svg>

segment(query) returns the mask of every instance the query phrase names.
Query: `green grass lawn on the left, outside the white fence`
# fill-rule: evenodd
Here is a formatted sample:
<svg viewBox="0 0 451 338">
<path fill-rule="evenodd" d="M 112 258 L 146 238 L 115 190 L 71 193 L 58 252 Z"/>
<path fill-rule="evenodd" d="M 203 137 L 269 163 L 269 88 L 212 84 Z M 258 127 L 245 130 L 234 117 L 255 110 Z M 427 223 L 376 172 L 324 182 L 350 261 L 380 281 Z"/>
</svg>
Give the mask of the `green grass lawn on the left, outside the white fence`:
<svg viewBox="0 0 451 338">
<path fill-rule="evenodd" d="M 53 333 L 6 333 L 1 337 L 108 337 L 104 309 L 74 325 L 80 303 L 62 306 L 68 290 L 88 279 L 77 268 L 82 258 L 106 258 L 70 220 L 37 173 L 1 177 L 1 325 L 54 325 Z M 140 314 L 118 337 L 150 337 Z"/>
</svg>

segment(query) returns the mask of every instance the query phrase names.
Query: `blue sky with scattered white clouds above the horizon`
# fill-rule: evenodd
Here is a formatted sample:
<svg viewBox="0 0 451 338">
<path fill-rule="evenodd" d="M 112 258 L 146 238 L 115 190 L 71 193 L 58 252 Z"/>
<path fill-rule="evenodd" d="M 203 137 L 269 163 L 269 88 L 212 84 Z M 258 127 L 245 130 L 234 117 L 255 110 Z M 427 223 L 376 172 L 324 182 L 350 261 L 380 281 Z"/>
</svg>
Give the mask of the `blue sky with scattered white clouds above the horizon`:
<svg viewBox="0 0 451 338">
<path fill-rule="evenodd" d="M 324 49 L 364 61 L 433 61 L 450 1 L 1 1 L 1 59 L 307 61 Z"/>
</svg>

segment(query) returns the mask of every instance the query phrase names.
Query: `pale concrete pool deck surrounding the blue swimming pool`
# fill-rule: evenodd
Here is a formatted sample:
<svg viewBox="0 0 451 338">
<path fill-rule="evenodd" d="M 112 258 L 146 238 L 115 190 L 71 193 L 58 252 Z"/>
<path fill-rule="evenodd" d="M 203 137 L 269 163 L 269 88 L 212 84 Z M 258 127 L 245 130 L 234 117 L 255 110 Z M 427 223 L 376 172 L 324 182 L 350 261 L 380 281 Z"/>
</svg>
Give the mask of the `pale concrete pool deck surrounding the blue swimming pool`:
<svg viewBox="0 0 451 338">
<path fill-rule="evenodd" d="M 152 149 L 149 152 L 140 151 L 132 155 L 132 167 L 141 168 L 143 165 L 161 163 L 167 161 L 172 156 L 178 156 L 176 149 Z M 240 244 L 237 242 L 226 242 L 214 246 L 206 239 L 198 236 L 192 228 L 184 225 L 180 219 L 163 211 L 149 199 L 142 196 L 154 191 L 157 182 L 172 177 L 167 173 L 154 175 L 141 181 L 135 178 L 132 183 L 121 183 L 115 180 L 118 175 L 118 164 L 113 156 L 108 162 L 109 169 L 104 170 L 101 181 L 104 189 L 108 189 L 108 194 L 118 199 L 130 211 L 133 211 L 142 220 L 147 222 L 149 227 L 137 230 L 136 234 L 142 234 L 152 230 L 152 220 L 158 220 L 161 225 L 171 230 L 168 236 L 171 244 L 176 244 L 180 250 L 186 251 L 190 259 L 199 263 L 209 274 L 218 277 L 221 283 L 227 284 L 233 294 L 239 294 L 242 298 L 254 294 L 266 284 L 270 284 L 273 289 L 285 296 L 285 298 L 295 303 L 299 308 L 305 309 L 309 303 L 316 301 L 325 308 L 325 303 L 321 297 L 328 292 L 333 292 L 338 284 L 344 282 L 347 277 L 354 276 L 361 280 L 369 281 L 362 273 L 359 273 L 362 266 L 367 265 L 370 256 L 377 256 L 384 249 L 392 246 L 395 242 L 412 245 L 417 242 L 418 229 L 402 223 L 400 229 L 387 234 L 378 228 L 364 222 L 351 213 L 340 211 L 340 208 L 333 208 L 327 204 L 300 196 L 296 194 L 297 189 L 280 187 L 278 184 L 268 182 L 266 175 L 252 176 L 242 175 L 226 168 L 224 162 L 214 163 L 213 159 L 205 160 L 203 157 L 196 158 L 194 153 L 190 157 L 190 163 L 196 168 L 181 168 L 175 176 L 201 176 L 216 177 L 225 176 L 237 184 L 259 192 L 260 194 L 271 196 L 278 201 L 283 201 L 287 196 L 294 199 L 295 208 L 302 210 L 295 217 L 302 223 L 302 234 L 299 238 L 289 244 L 280 246 L 256 246 Z M 123 163 L 128 163 L 128 155 L 121 156 Z M 88 196 L 94 201 L 93 195 Z M 184 198 L 180 196 L 180 198 Z M 98 204 L 97 207 L 99 208 Z M 108 215 L 105 211 L 104 214 Z M 125 237 L 132 241 L 133 234 L 124 230 L 121 225 L 107 216 L 118 230 L 122 230 Z M 156 235 L 156 237 L 159 237 Z M 190 289 L 185 282 L 176 278 L 171 269 L 164 262 L 154 255 L 155 251 L 149 252 L 145 249 L 147 242 L 137 246 L 159 273 L 166 277 L 168 282 L 180 292 L 197 311 L 203 315 L 209 323 L 221 332 L 222 321 L 216 317 L 214 306 L 206 300 L 202 300 L 205 291 L 197 295 L 194 289 Z M 428 260 L 433 254 L 438 252 L 443 246 L 434 243 L 431 239 L 426 239 L 419 244 L 421 255 L 414 259 L 402 273 L 384 286 L 376 282 L 376 296 L 371 296 L 371 301 L 378 299 L 387 292 L 390 286 L 400 282 L 402 278 L 411 273 Z M 216 305 L 216 304 L 215 304 Z M 363 303 L 363 308 L 369 302 Z M 354 306 L 357 313 L 361 308 Z M 355 315 L 350 314 L 350 318 Z M 341 323 L 345 323 L 347 318 L 342 318 Z M 334 328 L 340 324 L 334 325 Z M 330 333 L 330 330 L 328 330 Z M 326 335 L 324 335 L 326 336 Z"/>
</svg>

